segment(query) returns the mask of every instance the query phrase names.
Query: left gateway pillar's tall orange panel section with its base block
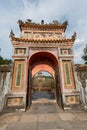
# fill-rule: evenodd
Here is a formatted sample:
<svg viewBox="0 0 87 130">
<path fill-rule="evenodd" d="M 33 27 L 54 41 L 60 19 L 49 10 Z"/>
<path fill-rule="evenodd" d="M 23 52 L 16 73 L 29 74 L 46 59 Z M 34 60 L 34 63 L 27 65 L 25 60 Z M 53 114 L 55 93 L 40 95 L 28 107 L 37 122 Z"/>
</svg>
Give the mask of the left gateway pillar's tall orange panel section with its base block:
<svg viewBox="0 0 87 130">
<path fill-rule="evenodd" d="M 25 60 L 14 61 L 11 91 L 6 95 L 4 108 L 26 109 L 25 65 Z"/>
</svg>

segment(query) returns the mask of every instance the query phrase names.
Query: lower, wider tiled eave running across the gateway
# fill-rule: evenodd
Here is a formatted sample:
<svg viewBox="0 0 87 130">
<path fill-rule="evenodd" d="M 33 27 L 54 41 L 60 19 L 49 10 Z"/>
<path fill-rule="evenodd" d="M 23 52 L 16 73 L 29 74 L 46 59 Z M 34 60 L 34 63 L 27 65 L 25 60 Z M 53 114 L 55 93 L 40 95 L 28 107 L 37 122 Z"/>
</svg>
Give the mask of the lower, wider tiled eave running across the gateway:
<svg viewBox="0 0 87 130">
<path fill-rule="evenodd" d="M 17 42 L 51 42 L 51 43 L 63 43 L 63 42 L 72 42 L 74 43 L 73 39 L 23 39 L 23 38 L 16 38 L 12 37 L 11 41 L 17 41 Z"/>
</svg>

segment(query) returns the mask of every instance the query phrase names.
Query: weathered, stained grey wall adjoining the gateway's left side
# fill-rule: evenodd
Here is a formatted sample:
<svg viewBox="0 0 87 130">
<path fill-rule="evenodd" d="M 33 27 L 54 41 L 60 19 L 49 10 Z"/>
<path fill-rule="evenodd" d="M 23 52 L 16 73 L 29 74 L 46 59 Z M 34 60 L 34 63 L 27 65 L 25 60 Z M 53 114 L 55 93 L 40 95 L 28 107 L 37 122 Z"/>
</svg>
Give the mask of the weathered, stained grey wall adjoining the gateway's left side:
<svg viewBox="0 0 87 130">
<path fill-rule="evenodd" d="M 0 111 L 2 111 L 4 106 L 4 99 L 7 93 L 11 90 L 11 65 L 0 66 Z"/>
</svg>

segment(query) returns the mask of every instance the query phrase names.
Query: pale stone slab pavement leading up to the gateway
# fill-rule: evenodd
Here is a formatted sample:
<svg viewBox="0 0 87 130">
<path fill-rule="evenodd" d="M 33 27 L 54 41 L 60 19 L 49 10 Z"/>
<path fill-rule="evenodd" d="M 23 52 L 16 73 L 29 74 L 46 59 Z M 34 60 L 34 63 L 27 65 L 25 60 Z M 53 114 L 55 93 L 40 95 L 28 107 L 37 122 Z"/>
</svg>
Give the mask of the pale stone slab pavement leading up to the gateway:
<svg viewBox="0 0 87 130">
<path fill-rule="evenodd" d="M 1 116 L 0 130 L 87 130 L 87 113 L 63 111 L 55 102 L 33 102 L 26 112 Z"/>
</svg>

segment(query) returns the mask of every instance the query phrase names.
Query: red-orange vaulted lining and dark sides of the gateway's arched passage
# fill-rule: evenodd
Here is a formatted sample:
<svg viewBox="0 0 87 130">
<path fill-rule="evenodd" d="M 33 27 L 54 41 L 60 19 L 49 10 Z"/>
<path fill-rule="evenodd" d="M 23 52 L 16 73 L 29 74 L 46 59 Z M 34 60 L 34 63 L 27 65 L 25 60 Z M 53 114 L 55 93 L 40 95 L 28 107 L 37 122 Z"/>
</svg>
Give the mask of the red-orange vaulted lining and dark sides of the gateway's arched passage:
<svg viewBox="0 0 87 130">
<path fill-rule="evenodd" d="M 56 102 L 61 105 L 61 88 L 57 57 L 50 52 L 37 52 L 29 58 L 27 106 L 32 103 L 32 77 L 39 71 L 49 72 L 55 79 Z"/>
</svg>

